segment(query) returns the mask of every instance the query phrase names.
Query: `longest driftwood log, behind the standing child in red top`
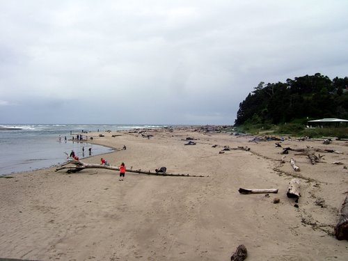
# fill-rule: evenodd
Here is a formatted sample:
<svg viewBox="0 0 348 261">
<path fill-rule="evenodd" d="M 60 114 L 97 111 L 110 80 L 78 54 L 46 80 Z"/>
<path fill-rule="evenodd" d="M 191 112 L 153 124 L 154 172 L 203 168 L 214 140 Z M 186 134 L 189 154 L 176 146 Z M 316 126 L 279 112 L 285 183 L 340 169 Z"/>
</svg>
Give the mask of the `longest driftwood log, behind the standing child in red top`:
<svg viewBox="0 0 348 261">
<path fill-rule="evenodd" d="M 73 166 L 67 166 L 68 164 L 72 164 Z M 86 168 L 105 168 L 111 171 L 120 171 L 120 168 L 116 166 L 88 164 L 79 160 L 69 159 L 65 164 L 62 164 L 59 168 L 56 168 L 56 172 L 61 170 L 67 170 L 67 173 L 77 173 L 79 171 L 83 171 Z M 127 172 L 147 174 L 147 175 L 157 175 L 157 176 L 171 176 L 171 177 L 209 177 L 204 175 L 171 174 L 171 173 L 159 173 L 156 171 L 141 171 L 141 169 L 138 169 L 138 170 L 127 169 Z"/>
</svg>

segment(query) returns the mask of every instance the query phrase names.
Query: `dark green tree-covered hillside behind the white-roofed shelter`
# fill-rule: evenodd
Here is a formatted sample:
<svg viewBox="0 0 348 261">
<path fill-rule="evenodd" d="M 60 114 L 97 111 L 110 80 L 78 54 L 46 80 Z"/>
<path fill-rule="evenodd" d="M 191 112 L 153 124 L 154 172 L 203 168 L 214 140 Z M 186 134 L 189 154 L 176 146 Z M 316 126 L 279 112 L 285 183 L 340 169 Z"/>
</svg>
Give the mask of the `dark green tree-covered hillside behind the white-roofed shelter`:
<svg viewBox="0 0 348 261">
<path fill-rule="evenodd" d="M 279 124 L 301 119 L 348 119 L 348 77 L 322 74 L 260 84 L 239 104 L 235 125 Z"/>
</svg>

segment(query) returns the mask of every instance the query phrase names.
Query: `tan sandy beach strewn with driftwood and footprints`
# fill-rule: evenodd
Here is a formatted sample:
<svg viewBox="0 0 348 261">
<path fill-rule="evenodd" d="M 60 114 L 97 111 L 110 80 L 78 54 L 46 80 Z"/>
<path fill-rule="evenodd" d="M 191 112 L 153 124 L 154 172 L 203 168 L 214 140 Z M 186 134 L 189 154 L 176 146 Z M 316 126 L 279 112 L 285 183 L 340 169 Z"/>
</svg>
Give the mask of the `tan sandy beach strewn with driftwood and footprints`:
<svg viewBox="0 0 348 261">
<path fill-rule="evenodd" d="M 244 244 L 246 260 L 348 260 L 348 242 L 333 235 L 348 193 L 347 141 L 286 139 L 283 147 L 342 154 L 320 153 L 323 162 L 312 165 L 290 151 L 282 164 L 275 141 L 193 127 L 139 132 L 88 134 L 120 150 L 84 161 L 209 177 L 126 173 L 119 182 L 118 171 L 47 168 L 0 178 L 0 258 L 223 261 Z M 184 145 L 188 137 L 196 145 Z M 220 154 L 225 145 L 251 150 Z M 301 181 L 299 207 L 286 196 L 293 177 Z M 244 195 L 241 187 L 278 193 Z"/>
</svg>

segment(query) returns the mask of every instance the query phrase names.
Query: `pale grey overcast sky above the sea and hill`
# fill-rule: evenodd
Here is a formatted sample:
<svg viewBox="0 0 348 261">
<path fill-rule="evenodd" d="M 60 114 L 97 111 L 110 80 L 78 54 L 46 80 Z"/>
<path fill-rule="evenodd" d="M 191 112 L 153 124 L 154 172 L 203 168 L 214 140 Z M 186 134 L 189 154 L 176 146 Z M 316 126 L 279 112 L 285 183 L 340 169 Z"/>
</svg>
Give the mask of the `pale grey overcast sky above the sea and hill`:
<svg viewBox="0 0 348 261">
<path fill-rule="evenodd" d="M 348 76 L 347 0 L 0 0 L 0 123 L 232 125 L 260 81 Z"/>
</svg>

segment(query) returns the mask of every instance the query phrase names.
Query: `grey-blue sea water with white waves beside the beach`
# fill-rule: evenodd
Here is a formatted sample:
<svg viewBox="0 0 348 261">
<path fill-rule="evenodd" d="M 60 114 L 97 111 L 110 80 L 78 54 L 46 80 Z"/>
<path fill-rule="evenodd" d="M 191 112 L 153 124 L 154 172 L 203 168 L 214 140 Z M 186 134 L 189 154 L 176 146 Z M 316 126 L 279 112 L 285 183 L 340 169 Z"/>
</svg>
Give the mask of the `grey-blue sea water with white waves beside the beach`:
<svg viewBox="0 0 348 261">
<path fill-rule="evenodd" d="M 79 132 L 156 127 L 164 125 L 0 125 L 0 175 L 63 164 L 67 159 L 65 153 L 70 154 L 72 150 L 79 159 L 113 151 L 86 141 L 72 141 L 72 136 L 76 138 Z"/>
</svg>

